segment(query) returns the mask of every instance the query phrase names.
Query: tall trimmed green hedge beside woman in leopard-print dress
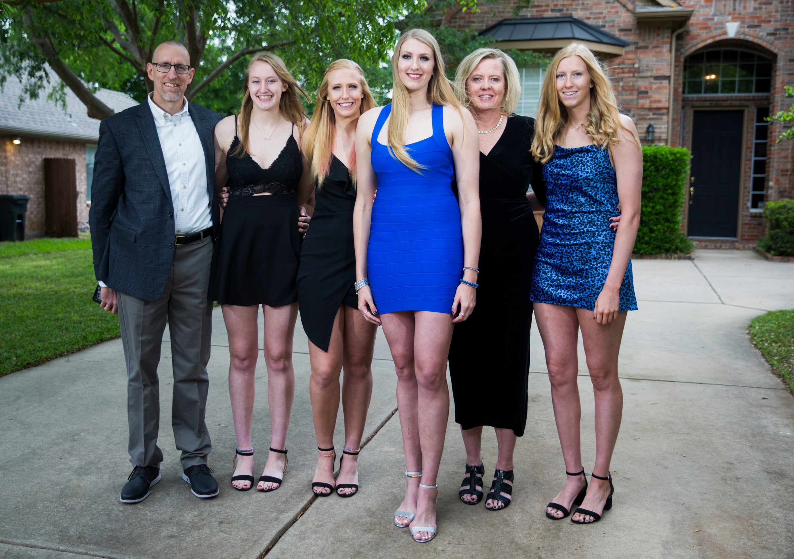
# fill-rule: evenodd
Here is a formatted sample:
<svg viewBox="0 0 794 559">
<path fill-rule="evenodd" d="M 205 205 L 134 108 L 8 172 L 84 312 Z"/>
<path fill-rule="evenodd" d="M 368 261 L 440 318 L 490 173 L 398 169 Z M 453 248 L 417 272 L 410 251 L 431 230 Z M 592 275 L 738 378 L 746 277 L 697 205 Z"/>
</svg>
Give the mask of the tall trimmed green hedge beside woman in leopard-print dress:
<svg viewBox="0 0 794 559">
<path fill-rule="evenodd" d="M 642 147 L 642 217 L 635 254 L 692 252 L 692 241 L 681 232 L 689 159 L 684 147 Z"/>
</svg>

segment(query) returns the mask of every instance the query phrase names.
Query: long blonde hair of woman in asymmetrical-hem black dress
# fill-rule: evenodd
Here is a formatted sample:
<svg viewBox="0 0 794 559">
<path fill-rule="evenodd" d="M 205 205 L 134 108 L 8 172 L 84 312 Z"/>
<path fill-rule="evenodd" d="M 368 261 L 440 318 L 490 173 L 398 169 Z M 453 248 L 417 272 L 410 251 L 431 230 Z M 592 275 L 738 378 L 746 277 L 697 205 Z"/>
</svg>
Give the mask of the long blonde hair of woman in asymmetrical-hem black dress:
<svg viewBox="0 0 794 559">
<path fill-rule="evenodd" d="M 361 105 L 359 115 L 366 113 L 375 106 L 375 98 L 369 90 L 364 71 L 353 60 L 341 58 L 334 60 L 326 68 L 326 75 L 322 76 L 322 82 L 317 90 L 317 104 L 314 105 L 314 114 L 311 116 L 306 132 L 301 136 L 303 153 L 311 164 L 311 177 L 317 181 L 318 189 L 322 189 L 322 183 L 328 176 L 328 170 L 333 159 L 333 135 L 336 131 L 337 117 L 333 113 L 333 107 L 328 96 L 328 75 L 334 70 L 353 70 L 359 75 L 359 86 L 361 88 Z M 353 178 L 353 186 L 356 184 L 356 147 L 350 152 L 348 159 L 348 170 L 350 178 Z"/>
</svg>

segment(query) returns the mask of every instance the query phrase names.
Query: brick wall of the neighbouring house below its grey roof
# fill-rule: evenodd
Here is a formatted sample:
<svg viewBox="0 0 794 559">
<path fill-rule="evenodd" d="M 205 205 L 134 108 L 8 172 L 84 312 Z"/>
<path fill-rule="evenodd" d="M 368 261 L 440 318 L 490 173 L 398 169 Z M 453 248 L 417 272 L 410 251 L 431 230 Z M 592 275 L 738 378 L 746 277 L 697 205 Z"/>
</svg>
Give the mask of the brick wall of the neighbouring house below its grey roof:
<svg viewBox="0 0 794 559">
<path fill-rule="evenodd" d="M 44 235 L 44 158 L 75 160 L 77 174 L 77 220 L 88 220 L 86 203 L 86 144 L 41 138 L 22 138 L 14 145 L 10 136 L 0 136 L 0 193 L 29 196 L 26 232 Z"/>
</svg>

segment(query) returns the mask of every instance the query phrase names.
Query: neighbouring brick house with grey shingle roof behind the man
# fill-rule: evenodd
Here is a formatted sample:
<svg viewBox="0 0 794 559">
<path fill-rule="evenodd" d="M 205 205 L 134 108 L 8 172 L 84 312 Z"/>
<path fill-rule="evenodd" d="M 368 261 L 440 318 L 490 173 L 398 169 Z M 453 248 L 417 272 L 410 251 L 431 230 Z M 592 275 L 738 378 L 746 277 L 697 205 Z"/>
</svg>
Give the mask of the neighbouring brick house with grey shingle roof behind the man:
<svg viewBox="0 0 794 559">
<path fill-rule="evenodd" d="M 0 194 L 29 196 L 25 237 L 44 235 L 44 159 L 75 160 L 77 220 L 88 220 L 91 207 L 91 178 L 94 152 L 99 139 L 99 121 L 87 116 L 86 105 L 66 90 L 66 110 L 47 101 L 52 84 L 38 99 L 25 94 L 25 85 L 10 76 L 0 95 Z M 137 101 L 118 91 L 98 90 L 98 98 L 115 111 Z M 21 98 L 25 101 L 19 105 Z"/>
</svg>

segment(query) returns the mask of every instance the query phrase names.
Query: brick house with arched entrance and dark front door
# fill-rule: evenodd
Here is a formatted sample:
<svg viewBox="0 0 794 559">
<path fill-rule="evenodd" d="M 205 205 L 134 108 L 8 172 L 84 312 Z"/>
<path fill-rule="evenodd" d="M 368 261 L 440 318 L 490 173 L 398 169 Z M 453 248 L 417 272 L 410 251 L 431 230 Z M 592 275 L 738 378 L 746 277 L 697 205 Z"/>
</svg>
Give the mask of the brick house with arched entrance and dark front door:
<svg viewBox="0 0 794 559">
<path fill-rule="evenodd" d="M 692 151 L 684 231 L 702 246 L 753 243 L 765 201 L 794 197 L 794 143 L 777 144 L 783 128 L 764 120 L 792 105 L 792 0 L 497 0 L 440 24 L 477 29 L 497 48 L 587 44 L 643 144 Z M 518 113 L 534 116 L 544 72 L 521 69 Z"/>
</svg>

